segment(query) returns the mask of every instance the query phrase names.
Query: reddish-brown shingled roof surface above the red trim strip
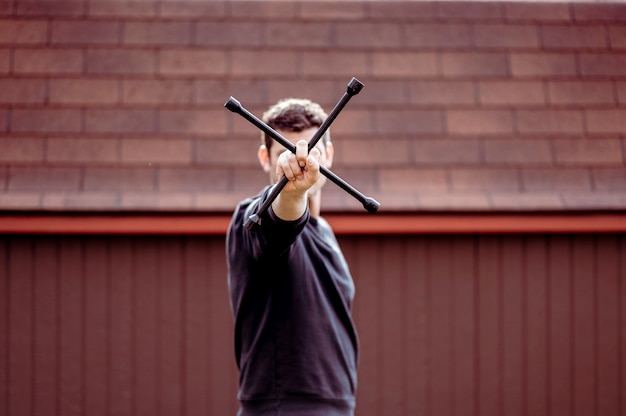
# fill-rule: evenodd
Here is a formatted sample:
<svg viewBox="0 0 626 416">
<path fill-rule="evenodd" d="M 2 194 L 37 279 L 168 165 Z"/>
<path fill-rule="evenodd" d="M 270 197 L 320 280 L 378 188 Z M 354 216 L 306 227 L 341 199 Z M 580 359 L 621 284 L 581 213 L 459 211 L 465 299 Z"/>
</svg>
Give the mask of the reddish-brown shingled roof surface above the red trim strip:
<svg viewBox="0 0 626 416">
<path fill-rule="evenodd" d="M 330 110 L 381 210 L 626 207 L 626 4 L 0 0 L 0 209 L 230 211 L 260 115 Z M 327 210 L 359 211 L 334 185 Z"/>
</svg>

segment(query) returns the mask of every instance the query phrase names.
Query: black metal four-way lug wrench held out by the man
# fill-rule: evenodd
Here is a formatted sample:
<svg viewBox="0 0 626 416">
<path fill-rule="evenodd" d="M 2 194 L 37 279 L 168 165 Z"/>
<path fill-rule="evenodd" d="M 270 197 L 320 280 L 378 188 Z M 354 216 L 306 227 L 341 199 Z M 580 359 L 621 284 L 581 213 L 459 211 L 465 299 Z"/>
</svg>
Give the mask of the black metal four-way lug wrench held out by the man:
<svg viewBox="0 0 626 416">
<path fill-rule="evenodd" d="M 362 88 L 363 88 L 363 84 L 358 79 L 352 78 L 350 80 L 350 82 L 348 83 L 346 92 L 343 94 L 341 99 L 337 102 L 335 107 L 329 113 L 328 117 L 326 117 L 326 119 L 322 122 L 322 124 L 317 129 L 315 134 L 313 134 L 313 137 L 311 137 L 311 139 L 309 140 L 309 143 L 308 143 L 309 152 L 311 151 L 311 149 L 315 147 L 315 145 L 317 145 L 317 142 L 324 136 L 324 134 L 330 127 L 331 123 L 335 120 L 335 118 L 337 118 L 337 115 L 339 115 L 339 113 L 345 107 L 348 101 L 350 101 L 350 99 L 353 96 L 357 95 L 361 91 Z M 265 122 L 263 122 L 261 119 L 256 117 L 254 114 L 246 110 L 241 105 L 241 103 L 237 101 L 235 98 L 230 97 L 228 101 L 226 101 L 226 103 L 224 104 L 224 107 L 226 107 L 233 113 L 240 114 L 241 116 L 243 116 L 243 118 L 245 118 L 246 120 L 254 124 L 259 129 L 261 129 L 265 134 L 267 134 L 269 137 L 274 139 L 277 143 L 284 146 L 287 150 L 289 150 L 292 153 L 296 153 L 296 146 L 293 143 L 291 143 L 289 140 L 283 137 L 276 130 L 268 126 Z M 352 185 L 350 185 L 349 183 L 341 179 L 339 176 L 331 172 L 329 169 L 321 165 L 320 165 L 320 173 L 326 176 L 328 179 L 330 179 L 331 182 L 334 182 L 344 191 L 348 192 L 354 198 L 356 198 L 368 212 L 374 213 L 378 211 L 378 208 L 380 207 L 380 203 L 376 201 L 375 199 L 363 195 L 361 192 L 356 190 Z M 267 211 L 267 209 L 270 207 L 272 202 L 274 202 L 274 200 L 276 199 L 280 191 L 282 191 L 282 189 L 285 187 L 287 182 L 289 182 L 288 179 L 285 176 L 283 176 L 280 179 L 280 181 L 274 186 L 271 193 L 268 195 L 267 199 L 263 202 L 263 204 L 259 207 L 257 212 L 251 215 L 246 221 L 245 227 L 247 229 L 251 229 L 254 226 L 254 224 L 259 224 L 261 222 L 261 219 L 260 219 L 261 215 L 263 215 L 263 213 Z"/>
</svg>

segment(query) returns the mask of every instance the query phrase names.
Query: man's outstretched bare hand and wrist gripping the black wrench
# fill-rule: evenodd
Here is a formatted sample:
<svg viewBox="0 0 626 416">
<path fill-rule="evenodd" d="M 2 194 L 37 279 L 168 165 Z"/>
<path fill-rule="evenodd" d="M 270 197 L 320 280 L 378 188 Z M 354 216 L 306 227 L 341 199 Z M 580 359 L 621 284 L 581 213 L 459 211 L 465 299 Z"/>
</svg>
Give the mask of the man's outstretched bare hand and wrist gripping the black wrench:
<svg viewBox="0 0 626 416">
<path fill-rule="evenodd" d="M 289 182 L 278 195 L 272 209 L 287 221 L 300 218 L 306 211 L 307 191 L 320 179 L 320 151 L 316 148 L 308 152 L 308 143 L 296 143 L 296 153 L 285 151 L 276 161 L 276 178 L 283 175 Z"/>
</svg>

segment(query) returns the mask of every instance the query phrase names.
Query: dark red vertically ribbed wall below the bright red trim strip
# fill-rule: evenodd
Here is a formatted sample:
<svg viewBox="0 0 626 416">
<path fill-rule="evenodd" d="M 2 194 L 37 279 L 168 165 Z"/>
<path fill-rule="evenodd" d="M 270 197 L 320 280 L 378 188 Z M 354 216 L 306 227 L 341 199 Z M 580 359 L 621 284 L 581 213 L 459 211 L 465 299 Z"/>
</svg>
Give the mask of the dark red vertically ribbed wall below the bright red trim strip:
<svg viewBox="0 0 626 416">
<path fill-rule="evenodd" d="M 359 416 L 626 411 L 624 235 L 340 236 Z M 0 414 L 229 415 L 223 237 L 0 239 Z"/>
</svg>

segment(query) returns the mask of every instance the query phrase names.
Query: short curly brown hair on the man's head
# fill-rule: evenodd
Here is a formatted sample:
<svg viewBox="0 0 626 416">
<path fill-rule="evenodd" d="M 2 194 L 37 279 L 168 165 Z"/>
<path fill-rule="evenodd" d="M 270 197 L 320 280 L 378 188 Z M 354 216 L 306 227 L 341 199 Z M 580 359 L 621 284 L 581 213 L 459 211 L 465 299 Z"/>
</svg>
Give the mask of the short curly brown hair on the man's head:
<svg viewBox="0 0 626 416">
<path fill-rule="evenodd" d="M 311 127 L 319 127 L 327 114 L 322 107 L 306 98 L 284 98 L 263 113 L 262 120 L 274 130 L 299 132 Z M 322 139 L 324 144 L 330 141 L 327 130 Z M 274 140 L 261 133 L 261 141 L 269 151 Z"/>
</svg>

